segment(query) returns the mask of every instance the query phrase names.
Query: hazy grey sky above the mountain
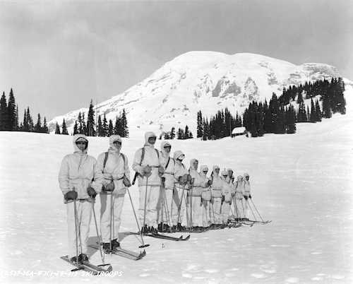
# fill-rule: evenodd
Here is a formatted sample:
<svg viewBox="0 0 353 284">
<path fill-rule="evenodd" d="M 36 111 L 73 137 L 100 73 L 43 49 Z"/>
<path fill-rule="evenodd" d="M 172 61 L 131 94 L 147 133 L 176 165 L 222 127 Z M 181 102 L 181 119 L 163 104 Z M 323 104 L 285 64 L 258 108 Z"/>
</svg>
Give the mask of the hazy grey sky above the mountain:
<svg viewBox="0 0 353 284">
<path fill-rule="evenodd" d="M 48 119 L 193 50 L 322 62 L 353 80 L 353 1 L 0 1 L 0 90 Z"/>
</svg>

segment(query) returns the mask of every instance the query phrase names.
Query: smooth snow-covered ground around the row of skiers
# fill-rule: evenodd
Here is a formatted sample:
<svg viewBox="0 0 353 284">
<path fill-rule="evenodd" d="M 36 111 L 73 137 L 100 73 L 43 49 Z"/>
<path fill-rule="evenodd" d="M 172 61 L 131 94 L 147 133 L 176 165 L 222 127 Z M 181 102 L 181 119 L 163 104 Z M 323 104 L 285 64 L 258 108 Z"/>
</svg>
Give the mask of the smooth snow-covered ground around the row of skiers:
<svg viewBox="0 0 353 284">
<path fill-rule="evenodd" d="M 0 282 L 353 283 L 353 88 L 345 95 L 346 115 L 297 124 L 294 135 L 172 141 L 172 150 L 186 153 L 186 163 L 198 158 L 201 165 L 249 172 L 253 201 L 273 223 L 192 234 L 188 242 L 146 239 L 143 260 L 107 256 L 118 271 L 114 278 L 6 276 L 71 269 L 59 259 L 66 253 L 66 210 L 57 174 L 73 149 L 71 136 L 0 132 Z M 107 143 L 90 138 L 90 155 L 97 157 Z M 124 139 L 129 161 L 142 145 L 142 137 Z M 136 186 L 131 194 L 138 206 Z M 126 196 L 121 232 L 130 230 L 136 223 Z M 90 236 L 95 242 L 94 223 Z M 121 244 L 137 249 L 138 239 L 124 237 Z M 90 256 L 100 261 L 98 252 Z"/>
</svg>

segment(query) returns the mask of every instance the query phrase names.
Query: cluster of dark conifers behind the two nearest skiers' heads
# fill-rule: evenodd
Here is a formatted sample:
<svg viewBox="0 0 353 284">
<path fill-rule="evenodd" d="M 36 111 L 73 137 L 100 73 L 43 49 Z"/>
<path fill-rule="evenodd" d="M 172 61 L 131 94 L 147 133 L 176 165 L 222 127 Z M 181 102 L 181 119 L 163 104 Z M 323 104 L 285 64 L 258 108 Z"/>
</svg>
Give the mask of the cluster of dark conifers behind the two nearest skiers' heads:
<svg viewBox="0 0 353 284">
<path fill-rule="evenodd" d="M 55 134 L 68 135 L 65 119 L 63 119 L 61 129 L 59 124 L 56 122 Z M 107 122 L 107 117 L 105 117 L 105 114 L 103 114 L 103 118 L 102 115 L 99 115 L 96 123 L 95 110 L 91 100 L 90 107 L 88 108 L 87 119 L 85 119 L 85 112 L 79 112 L 73 126 L 72 134 L 85 134 L 85 136 L 100 137 L 107 137 L 117 134 L 121 137 L 128 137 L 128 121 L 126 118 L 125 109 L 123 109 L 119 116 L 116 116 L 114 123 L 112 119 L 109 119 L 109 122 Z"/>
</svg>

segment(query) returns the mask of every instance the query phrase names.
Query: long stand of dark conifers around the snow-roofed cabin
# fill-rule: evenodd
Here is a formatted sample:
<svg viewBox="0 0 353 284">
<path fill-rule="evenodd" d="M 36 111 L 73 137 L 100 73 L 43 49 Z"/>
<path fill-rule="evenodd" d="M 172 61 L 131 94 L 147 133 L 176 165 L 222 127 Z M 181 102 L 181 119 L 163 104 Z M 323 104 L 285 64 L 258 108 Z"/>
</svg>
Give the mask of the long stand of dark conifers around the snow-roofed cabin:
<svg viewBox="0 0 353 284">
<path fill-rule="evenodd" d="M 321 122 L 321 119 L 330 118 L 332 114 L 346 113 L 344 97 L 345 83 L 342 78 L 332 78 L 330 81 L 318 80 L 304 85 L 290 85 L 283 88 L 282 95 L 275 93 L 268 103 L 250 102 L 243 115 L 243 125 L 252 137 L 263 136 L 266 133 L 294 134 L 297 130 L 296 123 Z M 319 104 L 320 95 L 322 110 Z M 310 99 L 311 104 L 306 107 L 304 103 Z M 297 109 L 292 105 L 297 102 Z M 208 119 L 202 116 L 201 111 L 197 116 L 197 137 L 203 140 L 218 139 L 231 136 L 234 127 L 241 126 L 241 117 L 230 114 L 227 108 L 220 110 L 215 116 Z"/>
</svg>

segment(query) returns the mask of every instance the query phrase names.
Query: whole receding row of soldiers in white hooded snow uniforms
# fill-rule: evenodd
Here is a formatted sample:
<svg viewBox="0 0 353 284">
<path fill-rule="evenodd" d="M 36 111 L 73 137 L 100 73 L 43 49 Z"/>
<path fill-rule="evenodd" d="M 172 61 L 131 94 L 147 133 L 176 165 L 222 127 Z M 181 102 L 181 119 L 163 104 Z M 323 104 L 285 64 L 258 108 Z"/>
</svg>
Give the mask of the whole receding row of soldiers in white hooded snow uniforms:
<svg viewBox="0 0 353 284">
<path fill-rule="evenodd" d="M 247 220 L 251 199 L 249 174 L 234 181 L 233 170 L 220 172 L 215 165 L 208 176 L 206 165 L 198 171 L 196 159 L 191 159 L 187 169 L 184 153 L 176 150 L 171 157 L 172 145 L 167 141 L 157 150 L 156 138 L 154 133 L 147 132 L 144 146 L 133 158 L 136 174 L 132 184 L 137 178 L 142 234 L 203 232 L 225 227 L 231 218 Z M 97 194 L 101 204 L 102 247 L 109 252 L 120 246 L 121 211 L 126 191 L 131 187 L 128 158 L 121 153 L 121 146 L 119 135 L 110 136 L 109 149 L 96 160 L 87 154 L 88 138 L 76 134 L 73 154 L 66 155 L 61 162 L 59 186 L 66 203 L 69 256 L 73 262 L 88 261 L 87 242 Z"/>
</svg>

